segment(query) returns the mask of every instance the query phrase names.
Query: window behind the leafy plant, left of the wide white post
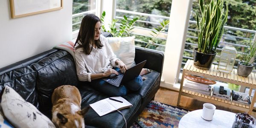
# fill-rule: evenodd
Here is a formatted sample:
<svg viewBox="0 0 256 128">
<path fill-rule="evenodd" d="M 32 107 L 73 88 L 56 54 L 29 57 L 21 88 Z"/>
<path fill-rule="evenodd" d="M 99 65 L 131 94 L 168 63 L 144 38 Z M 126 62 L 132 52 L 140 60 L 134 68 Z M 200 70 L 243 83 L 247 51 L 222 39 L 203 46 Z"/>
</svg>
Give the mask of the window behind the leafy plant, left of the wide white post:
<svg viewBox="0 0 256 128">
<path fill-rule="evenodd" d="M 131 19 L 138 17 L 132 35 L 136 36 L 136 46 L 145 47 L 149 38 L 152 38 L 151 30 L 163 20 L 169 20 L 171 4 L 172 0 L 116 0 L 116 19 L 120 21 L 124 15 Z M 147 48 L 164 52 L 167 32 L 168 26 L 165 32 L 154 40 L 155 44 L 150 44 Z"/>
</svg>

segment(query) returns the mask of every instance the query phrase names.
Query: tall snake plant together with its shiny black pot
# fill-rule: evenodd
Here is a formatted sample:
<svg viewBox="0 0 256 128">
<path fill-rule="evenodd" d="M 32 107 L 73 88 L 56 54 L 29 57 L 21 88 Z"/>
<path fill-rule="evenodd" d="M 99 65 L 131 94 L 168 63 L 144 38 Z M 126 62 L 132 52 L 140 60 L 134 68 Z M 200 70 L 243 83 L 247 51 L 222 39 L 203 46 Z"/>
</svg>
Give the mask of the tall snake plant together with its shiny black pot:
<svg viewBox="0 0 256 128">
<path fill-rule="evenodd" d="M 199 0 L 201 19 L 196 13 L 198 29 L 198 48 L 194 49 L 194 65 L 197 68 L 209 69 L 216 55 L 216 48 L 224 32 L 228 7 L 224 12 L 223 0 L 211 0 L 209 5 Z"/>
</svg>

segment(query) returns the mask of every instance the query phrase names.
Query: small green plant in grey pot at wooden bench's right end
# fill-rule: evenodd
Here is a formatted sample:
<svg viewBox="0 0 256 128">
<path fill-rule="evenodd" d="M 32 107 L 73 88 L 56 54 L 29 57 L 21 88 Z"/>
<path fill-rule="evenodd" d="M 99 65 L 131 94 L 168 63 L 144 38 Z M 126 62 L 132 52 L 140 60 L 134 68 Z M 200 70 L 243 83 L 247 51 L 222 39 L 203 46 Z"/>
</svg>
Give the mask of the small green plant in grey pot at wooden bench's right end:
<svg viewBox="0 0 256 128">
<path fill-rule="evenodd" d="M 256 56 L 256 41 L 250 39 L 249 47 L 245 47 L 242 55 L 239 56 L 240 62 L 237 65 L 239 76 L 247 77 L 253 70 L 253 62 Z"/>
</svg>

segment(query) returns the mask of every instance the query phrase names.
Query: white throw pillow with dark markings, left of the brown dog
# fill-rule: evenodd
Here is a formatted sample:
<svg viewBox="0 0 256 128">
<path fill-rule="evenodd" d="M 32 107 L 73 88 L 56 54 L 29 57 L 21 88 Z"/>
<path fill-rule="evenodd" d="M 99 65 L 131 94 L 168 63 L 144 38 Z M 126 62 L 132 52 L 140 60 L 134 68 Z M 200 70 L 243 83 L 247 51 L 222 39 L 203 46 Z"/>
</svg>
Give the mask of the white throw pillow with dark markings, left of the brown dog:
<svg viewBox="0 0 256 128">
<path fill-rule="evenodd" d="M 51 120 L 6 86 L 1 101 L 3 114 L 15 128 L 55 128 Z"/>
</svg>

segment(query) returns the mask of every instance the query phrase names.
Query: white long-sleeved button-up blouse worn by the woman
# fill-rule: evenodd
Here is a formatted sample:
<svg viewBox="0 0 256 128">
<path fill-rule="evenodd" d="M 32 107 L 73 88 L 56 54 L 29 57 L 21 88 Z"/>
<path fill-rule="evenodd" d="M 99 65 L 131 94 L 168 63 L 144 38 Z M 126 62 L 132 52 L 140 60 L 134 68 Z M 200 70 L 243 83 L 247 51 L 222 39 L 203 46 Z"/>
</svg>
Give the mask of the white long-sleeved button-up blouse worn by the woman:
<svg viewBox="0 0 256 128">
<path fill-rule="evenodd" d="M 113 53 L 108 41 L 100 35 L 100 41 L 103 44 L 101 49 L 93 48 L 90 55 L 84 54 L 83 48 L 75 49 L 76 73 L 79 81 L 91 81 L 90 75 L 96 73 L 105 73 L 116 66 L 116 55 Z M 79 46 L 79 41 L 75 48 Z M 91 46 L 92 47 L 92 46 Z"/>
</svg>

